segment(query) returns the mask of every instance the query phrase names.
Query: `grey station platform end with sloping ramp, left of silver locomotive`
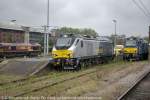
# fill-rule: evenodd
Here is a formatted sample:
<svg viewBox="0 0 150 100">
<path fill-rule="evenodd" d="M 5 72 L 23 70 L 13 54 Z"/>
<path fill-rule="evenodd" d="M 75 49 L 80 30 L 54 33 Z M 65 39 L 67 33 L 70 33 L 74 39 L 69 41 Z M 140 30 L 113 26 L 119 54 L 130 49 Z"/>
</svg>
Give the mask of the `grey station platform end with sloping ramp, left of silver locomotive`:
<svg viewBox="0 0 150 100">
<path fill-rule="evenodd" d="M 1 62 L 0 74 L 32 76 L 52 61 L 52 58 L 17 58 Z"/>
</svg>

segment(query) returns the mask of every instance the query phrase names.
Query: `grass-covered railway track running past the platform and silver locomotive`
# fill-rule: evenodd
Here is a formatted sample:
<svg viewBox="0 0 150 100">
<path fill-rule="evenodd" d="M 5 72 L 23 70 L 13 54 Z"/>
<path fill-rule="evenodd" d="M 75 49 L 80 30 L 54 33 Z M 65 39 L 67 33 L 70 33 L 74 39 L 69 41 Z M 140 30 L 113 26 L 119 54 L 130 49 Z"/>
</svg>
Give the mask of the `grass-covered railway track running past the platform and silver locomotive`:
<svg viewBox="0 0 150 100">
<path fill-rule="evenodd" d="M 32 93 L 35 91 L 40 91 L 44 88 L 55 86 L 57 84 L 66 82 L 68 80 L 73 80 L 73 79 L 76 79 L 76 78 L 79 78 L 84 75 L 94 73 L 97 71 L 95 68 L 94 69 L 88 68 L 88 69 L 89 70 L 87 70 L 87 71 L 82 70 L 81 72 L 79 72 L 79 73 L 77 72 L 75 74 L 73 74 L 73 73 L 60 74 L 60 72 L 58 72 L 57 74 L 54 75 L 54 76 L 57 76 L 56 81 L 55 81 L 55 78 L 53 78 L 53 76 L 50 75 L 48 77 L 43 77 L 43 78 L 37 77 L 37 79 L 33 79 L 33 80 L 30 77 L 24 77 L 21 79 L 12 80 L 12 81 L 8 81 L 8 82 L 1 82 L 0 87 L 2 87 L 2 88 L 0 88 L 0 94 L 10 95 L 13 97 L 23 96 L 23 95 L 26 95 L 26 94 L 29 94 L 29 93 Z M 58 74 L 60 74 L 60 77 Z M 30 80 L 30 81 L 28 81 L 28 80 Z"/>
</svg>

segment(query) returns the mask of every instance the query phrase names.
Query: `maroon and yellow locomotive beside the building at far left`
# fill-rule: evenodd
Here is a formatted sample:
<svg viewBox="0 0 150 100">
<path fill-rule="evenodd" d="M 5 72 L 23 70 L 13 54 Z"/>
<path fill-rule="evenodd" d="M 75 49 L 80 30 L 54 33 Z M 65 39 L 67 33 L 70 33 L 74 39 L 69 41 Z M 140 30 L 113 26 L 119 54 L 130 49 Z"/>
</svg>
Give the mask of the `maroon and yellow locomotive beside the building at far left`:
<svg viewBox="0 0 150 100">
<path fill-rule="evenodd" d="M 31 43 L 0 43 L 0 58 L 17 56 L 38 56 L 40 44 Z"/>
</svg>

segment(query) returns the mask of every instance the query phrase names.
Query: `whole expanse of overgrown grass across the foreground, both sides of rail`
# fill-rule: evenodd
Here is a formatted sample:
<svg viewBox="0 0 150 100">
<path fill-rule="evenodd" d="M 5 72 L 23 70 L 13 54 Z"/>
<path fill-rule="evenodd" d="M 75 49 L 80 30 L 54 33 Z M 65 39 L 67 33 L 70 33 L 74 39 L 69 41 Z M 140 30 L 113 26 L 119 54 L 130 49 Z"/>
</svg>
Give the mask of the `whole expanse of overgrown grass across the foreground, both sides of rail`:
<svg viewBox="0 0 150 100">
<path fill-rule="evenodd" d="M 100 85 L 99 81 L 102 80 L 109 73 L 113 73 L 123 68 L 127 68 L 128 66 L 134 65 L 134 63 L 135 62 L 120 61 L 120 62 L 112 62 L 104 65 L 97 65 L 95 67 L 89 67 L 88 69 L 82 69 L 79 72 L 50 72 L 45 76 L 33 76 L 24 82 L 4 85 L 3 87 L 0 87 L 0 94 L 14 95 L 16 93 L 33 90 L 35 88 L 48 85 L 53 82 L 57 82 L 66 78 L 71 78 L 87 72 L 96 71 L 95 73 L 91 73 L 82 78 L 66 81 L 61 84 L 43 89 L 41 91 L 28 94 L 28 95 L 37 95 L 37 96 L 39 95 L 43 95 L 43 96 L 81 95 L 86 93 L 87 91 L 95 90 L 97 86 Z M 143 61 L 140 63 L 145 64 L 147 63 L 147 61 Z"/>
</svg>

